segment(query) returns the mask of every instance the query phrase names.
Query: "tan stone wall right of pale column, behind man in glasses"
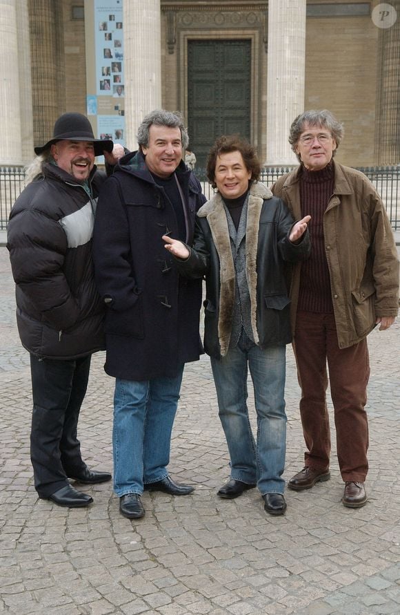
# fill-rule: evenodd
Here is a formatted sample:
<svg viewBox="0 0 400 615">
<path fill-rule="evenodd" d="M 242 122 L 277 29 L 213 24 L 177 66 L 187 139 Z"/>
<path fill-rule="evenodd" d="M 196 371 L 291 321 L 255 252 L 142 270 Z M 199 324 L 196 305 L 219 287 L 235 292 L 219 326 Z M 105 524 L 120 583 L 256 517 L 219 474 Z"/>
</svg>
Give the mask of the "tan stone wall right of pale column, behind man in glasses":
<svg viewBox="0 0 400 615">
<path fill-rule="evenodd" d="M 306 27 L 306 109 L 328 108 L 343 122 L 343 164 L 374 164 L 376 28 L 370 17 L 312 17 Z"/>
</svg>

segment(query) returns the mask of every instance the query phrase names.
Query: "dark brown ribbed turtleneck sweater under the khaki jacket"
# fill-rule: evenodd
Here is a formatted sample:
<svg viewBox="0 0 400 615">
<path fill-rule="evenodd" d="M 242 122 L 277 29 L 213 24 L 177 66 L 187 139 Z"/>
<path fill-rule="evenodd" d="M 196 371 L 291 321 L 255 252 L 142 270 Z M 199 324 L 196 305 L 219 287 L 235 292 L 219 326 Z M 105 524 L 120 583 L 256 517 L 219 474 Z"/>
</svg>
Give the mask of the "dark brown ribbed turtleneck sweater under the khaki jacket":
<svg viewBox="0 0 400 615">
<path fill-rule="evenodd" d="M 323 214 L 328 207 L 334 187 L 332 161 L 321 171 L 303 167 L 300 176 L 301 216 L 311 216 L 308 229 L 311 255 L 301 263 L 298 310 L 333 312 L 330 276 L 323 242 Z"/>
</svg>

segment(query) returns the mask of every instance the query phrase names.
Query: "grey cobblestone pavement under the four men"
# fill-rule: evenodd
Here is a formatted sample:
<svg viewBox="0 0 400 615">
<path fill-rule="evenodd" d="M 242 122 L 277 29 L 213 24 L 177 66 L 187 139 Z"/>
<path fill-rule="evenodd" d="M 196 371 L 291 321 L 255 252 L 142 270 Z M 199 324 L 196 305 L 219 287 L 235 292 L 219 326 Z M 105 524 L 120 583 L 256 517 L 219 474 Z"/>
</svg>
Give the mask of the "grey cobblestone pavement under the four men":
<svg viewBox="0 0 400 615">
<path fill-rule="evenodd" d="M 170 473 L 191 495 L 143 495 L 146 517 L 121 517 L 110 483 L 84 489 L 88 509 L 38 500 L 29 459 L 30 375 L 14 321 L 8 253 L 0 247 L 0 611 L 163 615 L 366 615 L 400 613 L 400 381 L 397 322 L 372 332 L 369 501 L 341 504 L 332 478 L 287 490 L 285 516 L 263 510 L 256 489 L 216 491 L 228 455 L 207 357 L 187 366 Z M 94 357 L 79 435 L 90 467 L 112 471 L 113 381 Z M 303 466 L 292 352 L 288 348 L 285 477 Z M 251 405 L 251 402 L 250 402 Z M 332 426 L 333 429 L 333 426 Z M 78 486 L 83 489 L 83 486 Z"/>
</svg>

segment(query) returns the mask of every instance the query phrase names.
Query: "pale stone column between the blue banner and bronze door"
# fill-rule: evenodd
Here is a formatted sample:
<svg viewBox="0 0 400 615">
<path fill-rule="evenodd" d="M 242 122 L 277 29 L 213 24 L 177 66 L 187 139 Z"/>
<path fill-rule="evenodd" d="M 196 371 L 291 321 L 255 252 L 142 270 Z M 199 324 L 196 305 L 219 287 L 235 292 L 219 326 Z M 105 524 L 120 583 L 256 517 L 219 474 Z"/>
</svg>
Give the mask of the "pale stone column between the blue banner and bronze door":
<svg viewBox="0 0 400 615">
<path fill-rule="evenodd" d="M 146 113 L 161 107 L 160 0 L 123 3 L 125 129 L 130 149 Z"/>
</svg>

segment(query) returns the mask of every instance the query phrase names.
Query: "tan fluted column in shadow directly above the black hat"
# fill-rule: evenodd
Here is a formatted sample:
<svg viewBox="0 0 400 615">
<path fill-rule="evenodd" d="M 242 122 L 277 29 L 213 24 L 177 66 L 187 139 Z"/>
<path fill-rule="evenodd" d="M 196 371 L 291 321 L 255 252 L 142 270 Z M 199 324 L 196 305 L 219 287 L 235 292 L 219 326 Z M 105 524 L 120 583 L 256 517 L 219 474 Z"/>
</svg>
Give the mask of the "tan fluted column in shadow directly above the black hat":
<svg viewBox="0 0 400 615">
<path fill-rule="evenodd" d="M 43 145 L 51 137 L 57 117 L 66 111 L 63 2 L 28 0 L 28 7 L 34 144 Z"/>
</svg>

